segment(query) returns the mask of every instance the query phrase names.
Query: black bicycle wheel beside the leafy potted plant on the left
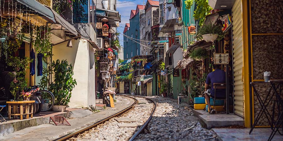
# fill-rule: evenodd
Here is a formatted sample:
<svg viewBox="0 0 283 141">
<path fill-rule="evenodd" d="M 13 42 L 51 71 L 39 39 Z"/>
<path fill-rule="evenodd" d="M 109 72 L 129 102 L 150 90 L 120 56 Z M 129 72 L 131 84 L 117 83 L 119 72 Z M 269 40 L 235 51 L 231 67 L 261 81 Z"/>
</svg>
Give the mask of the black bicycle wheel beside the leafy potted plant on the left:
<svg viewBox="0 0 283 141">
<path fill-rule="evenodd" d="M 55 97 L 53 93 L 47 90 L 40 90 L 39 92 L 41 92 L 41 96 L 45 104 L 42 108 L 42 112 L 49 111 L 54 105 Z"/>
</svg>

